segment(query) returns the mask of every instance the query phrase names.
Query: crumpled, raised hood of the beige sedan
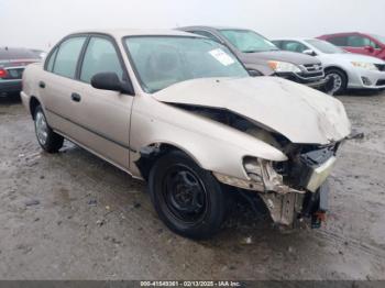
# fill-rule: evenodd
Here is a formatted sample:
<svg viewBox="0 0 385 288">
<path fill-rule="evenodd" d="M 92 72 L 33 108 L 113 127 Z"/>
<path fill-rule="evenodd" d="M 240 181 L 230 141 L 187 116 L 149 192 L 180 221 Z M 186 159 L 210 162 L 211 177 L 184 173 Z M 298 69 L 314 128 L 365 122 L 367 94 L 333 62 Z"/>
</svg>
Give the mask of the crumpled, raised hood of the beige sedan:
<svg viewBox="0 0 385 288">
<path fill-rule="evenodd" d="M 329 144 L 348 136 L 351 129 L 339 100 L 277 77 L 194 79 L 153 97 L 167 103 L 227 109 L 293 143 Z"/>
</svg>

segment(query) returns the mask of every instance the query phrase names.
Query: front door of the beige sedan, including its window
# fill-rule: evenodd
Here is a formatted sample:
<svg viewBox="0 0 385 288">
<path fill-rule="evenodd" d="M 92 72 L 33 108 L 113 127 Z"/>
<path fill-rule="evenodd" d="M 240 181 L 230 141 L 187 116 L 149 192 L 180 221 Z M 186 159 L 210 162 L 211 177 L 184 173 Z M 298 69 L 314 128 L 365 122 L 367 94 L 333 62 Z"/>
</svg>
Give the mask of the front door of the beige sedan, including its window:
<svg viewBox="0 0 385 288">
<path fill-rule="evenodd" d="M 105 159 L 129 169 L 130 117 L 134 98 L 94 88 L 90 81 L 98 73 L 116 73 L 120 80 L 130 81 L 112 37 L 90 36 L 80 60 L 77 85 L 68 90 L 77 96 L 77 101 L 72 101 L 73 121 L 78 124 L 74 139 Z"/>
</svg>

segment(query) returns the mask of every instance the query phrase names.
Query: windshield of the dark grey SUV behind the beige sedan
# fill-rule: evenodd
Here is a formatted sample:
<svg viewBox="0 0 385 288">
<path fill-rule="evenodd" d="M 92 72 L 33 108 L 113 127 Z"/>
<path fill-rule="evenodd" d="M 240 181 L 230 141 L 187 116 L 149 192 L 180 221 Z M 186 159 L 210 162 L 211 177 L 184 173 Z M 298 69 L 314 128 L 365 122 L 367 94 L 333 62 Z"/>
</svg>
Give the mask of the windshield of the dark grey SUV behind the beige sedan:
<svg viewBox="0 0 385 288">
<path fill-rule="evenodd" d="M 278 49 L 267 38 L 251 30 L 220 30 L 220 33 L 243 53 Z"/>
</svg>

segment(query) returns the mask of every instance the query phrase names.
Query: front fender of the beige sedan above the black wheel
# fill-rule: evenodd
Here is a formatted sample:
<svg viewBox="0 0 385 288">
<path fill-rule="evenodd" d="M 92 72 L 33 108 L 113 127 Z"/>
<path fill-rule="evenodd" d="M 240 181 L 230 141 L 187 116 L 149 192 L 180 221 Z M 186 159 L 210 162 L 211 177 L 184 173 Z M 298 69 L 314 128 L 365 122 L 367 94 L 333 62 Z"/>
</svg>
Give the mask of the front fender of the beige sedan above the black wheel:
<svg viewBox="0 0 385 288">
<path fill-rule="evenodd" d="M 152 97 L 136 99 L 131 119 L 130 146 L 136 152 L 154 143 L 169 144 L 190 155 L 204 169 L 219 174 L 248 179 L 244 156 L 287 159 L 279 149 L 256 137 Z"/>
</svg>

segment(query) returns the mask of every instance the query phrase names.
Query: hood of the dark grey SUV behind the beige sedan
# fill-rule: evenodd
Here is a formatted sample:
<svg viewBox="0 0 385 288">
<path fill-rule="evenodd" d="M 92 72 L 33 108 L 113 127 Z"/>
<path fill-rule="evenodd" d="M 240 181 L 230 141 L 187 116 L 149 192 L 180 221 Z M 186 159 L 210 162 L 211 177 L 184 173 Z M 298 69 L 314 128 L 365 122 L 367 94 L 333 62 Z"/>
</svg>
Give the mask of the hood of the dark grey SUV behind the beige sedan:
<svg viewBox="0 0 385 288">
<path fill-rule="evenodd" d="M 261 62 L 261 60 L 282 60 L 297 65 L 305 64 L 318 64 L 320 63 L 317 58 L 301 53 L 294 53 L 287 51 L 267 51 L 257 53 L 242 53 L 240 56 L 245 63 Z"/>
</svg>

